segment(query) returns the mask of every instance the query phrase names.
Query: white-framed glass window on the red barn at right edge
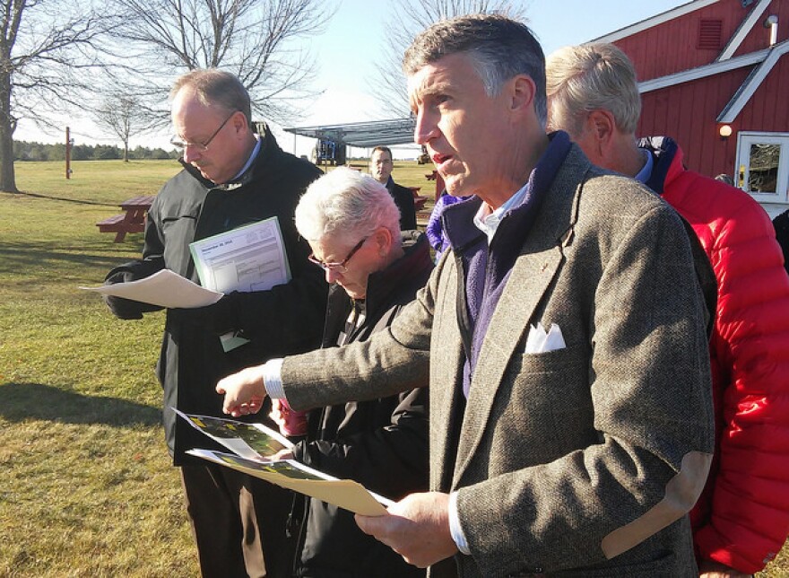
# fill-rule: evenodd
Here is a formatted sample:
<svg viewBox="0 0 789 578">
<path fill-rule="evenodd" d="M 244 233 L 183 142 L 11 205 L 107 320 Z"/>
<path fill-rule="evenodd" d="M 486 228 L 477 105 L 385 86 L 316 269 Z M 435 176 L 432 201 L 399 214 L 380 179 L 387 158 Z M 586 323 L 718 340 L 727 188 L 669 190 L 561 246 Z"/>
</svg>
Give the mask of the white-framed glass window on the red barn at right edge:
<svg viewBox="0 0 789 578">
<path fill-rule="evenodd" d="M 789 203 L 789 133 L 741 132 L 737 186 L 759 203 Z"/>
</svg>

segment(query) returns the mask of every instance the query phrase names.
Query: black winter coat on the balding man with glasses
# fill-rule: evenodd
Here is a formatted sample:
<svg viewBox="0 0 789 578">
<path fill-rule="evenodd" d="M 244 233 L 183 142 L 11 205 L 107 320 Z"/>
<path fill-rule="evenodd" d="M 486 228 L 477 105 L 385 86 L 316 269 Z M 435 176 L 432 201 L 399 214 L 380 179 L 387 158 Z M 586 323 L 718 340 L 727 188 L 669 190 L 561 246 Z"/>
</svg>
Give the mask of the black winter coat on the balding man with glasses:
<svg viewBox="0 0 789 578">
<path fill-rule="evenodd" d="M 238 180 L 215 185 L 195 168 L 167 181 L 153 201 L 145 226 L 143 259 L 113 269 L 131 281 L 168 268 L 199 283 L 189 243 L 276 216 L 290 262 L 292 280 L 269 291 L 230 293 L 198 310 L 168 310 L 157 374 L 164 389 L 164 425 L 176 465 L 193 461 L 184 451 L 209 447 L 210 441 L 177 420 L 169 407 L 222 416 L 214 390 L 222 377 L 271 357 L 314 349 L 320 343 L 325 312 L 325 282 L 307 259 L 293 212 L 300 195 L 321 172 L 311 163 L 284 153 L 265 130 L 255 162 Z M 126 319 L 158 308 L 121 300 Z M 117 313 L 117 302 L 109 302 Z M 224 353 L 218 336 L 240 330 L 250 343 Z M 253 416 L 260 421 L 260 416 Z M 251 419 L 251 418 L 250 418 Z M 202 462 L 201 462 L 202 463 Z"/>
</svg>

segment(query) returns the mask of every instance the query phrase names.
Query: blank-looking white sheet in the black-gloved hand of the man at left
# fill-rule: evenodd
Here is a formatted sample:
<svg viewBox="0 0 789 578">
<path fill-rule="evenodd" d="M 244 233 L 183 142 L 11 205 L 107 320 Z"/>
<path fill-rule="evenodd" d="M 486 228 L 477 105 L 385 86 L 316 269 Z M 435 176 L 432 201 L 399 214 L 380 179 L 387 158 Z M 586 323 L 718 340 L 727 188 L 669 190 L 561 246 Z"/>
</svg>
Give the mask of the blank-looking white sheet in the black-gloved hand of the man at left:
<svg viewBox="0 0 789 578">
<path fill-rule="evenodd" d="M 218 302 L 222 296 L 222 293 L 201 287 L 169 269 L 162 269 L 139 281 L 98 287 L 81 286 L 80 289 L 160 307 L 204 307 Z"/>
</svg>

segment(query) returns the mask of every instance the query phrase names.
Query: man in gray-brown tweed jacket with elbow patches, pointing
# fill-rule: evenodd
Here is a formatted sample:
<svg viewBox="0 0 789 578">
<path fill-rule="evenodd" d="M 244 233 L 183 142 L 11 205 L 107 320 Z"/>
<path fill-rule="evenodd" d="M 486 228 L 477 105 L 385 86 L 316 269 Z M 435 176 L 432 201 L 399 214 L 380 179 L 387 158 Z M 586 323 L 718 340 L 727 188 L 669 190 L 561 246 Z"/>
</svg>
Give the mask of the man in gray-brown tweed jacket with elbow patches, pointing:
<svg viewBox="0 0 789 578">
<path fill-rule="evenodd" d="M 432 575 L 696 575 L 686 512 L 712 401 L 679 218 L 545 135 L 524 25 L 438 22 L 404 69 L 416 142 L 450 194 L 474 195 L 447 208 L 451 251 L 388 331 L 229 376 L 225 411 L 429 385 L 432 491 L 358 516 L 362 530 Z"/>
</svg>

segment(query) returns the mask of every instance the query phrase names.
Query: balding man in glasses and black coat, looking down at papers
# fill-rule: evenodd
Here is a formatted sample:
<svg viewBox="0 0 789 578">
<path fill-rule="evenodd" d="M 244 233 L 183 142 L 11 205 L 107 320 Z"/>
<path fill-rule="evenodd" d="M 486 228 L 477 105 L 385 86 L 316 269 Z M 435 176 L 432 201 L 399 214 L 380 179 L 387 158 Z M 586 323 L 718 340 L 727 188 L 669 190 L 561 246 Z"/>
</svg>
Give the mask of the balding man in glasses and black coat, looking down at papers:
<svg viewBox="0 0 789 578">
<path fill-rule="evenodd" d="M 206 438 L 177 421 L 169 407 L 221 416 L 213 387 L 222 375 L 320 345 L 326 285 L 308 262 L 309 247 L 299 240 L 293 213 L 321 172 L 284 153 L 266 127 L 260 135 L 253 132 L 247 90 L 230 73 L 185 74 L 170 98 L 176 135 L 171 142 L 182 153 L 184 170 L 153 202 L 143 258 L 110 271 L 106 283 L 134 281 L 163 268 L 198 282 L 189 243 L 269 217 L 279 220 L 290 283 L 230 293 L 207 308 L 168 310 L 157 366 L 167 442 L 181 468 L 203 575 L 279 576 L 292 560 L 284 541 L 290 494 L 227 468 L 195 463 L 184 452 L 206 447 Z M 125 320 L 159 309 L 114 297 L 107 302 Z M 230 330 L 249 343 L 224 353 L 218 336 Z"/>
</svg>

